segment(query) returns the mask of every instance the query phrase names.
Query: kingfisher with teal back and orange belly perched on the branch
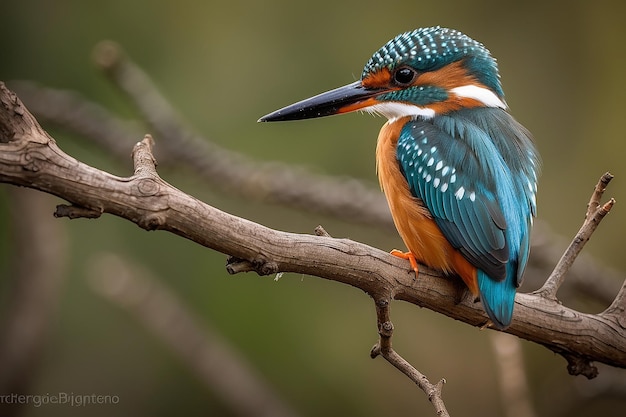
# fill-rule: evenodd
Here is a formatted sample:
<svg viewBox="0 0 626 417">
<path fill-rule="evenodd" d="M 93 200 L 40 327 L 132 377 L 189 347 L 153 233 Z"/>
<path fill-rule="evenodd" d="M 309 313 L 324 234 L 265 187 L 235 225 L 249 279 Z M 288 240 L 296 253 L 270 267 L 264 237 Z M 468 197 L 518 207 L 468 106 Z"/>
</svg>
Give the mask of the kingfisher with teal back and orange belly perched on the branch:
<svg viewBox="0 0 626 417">
<path fill-rule="evenodd" d="M 259 122 L 353 111 L 387 118 L 376 171 L 396 229 L 418 264 L 459 276 L 486 325 L 511 324 L 530 253 L 540 159 L 509 113 L 496 59 L 441 26 L 402 33 L 376 51 L 358 81 L 276 110 Z"/>
</svg>

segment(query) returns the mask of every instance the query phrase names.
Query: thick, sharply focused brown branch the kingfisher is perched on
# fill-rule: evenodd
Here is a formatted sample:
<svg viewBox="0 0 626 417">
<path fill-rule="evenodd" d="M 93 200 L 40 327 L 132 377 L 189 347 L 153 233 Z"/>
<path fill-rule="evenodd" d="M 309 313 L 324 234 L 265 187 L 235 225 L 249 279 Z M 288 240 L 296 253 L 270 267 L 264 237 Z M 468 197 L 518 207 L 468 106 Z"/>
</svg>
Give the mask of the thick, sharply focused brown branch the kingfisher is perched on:
<svg viewBox="0 0 626 417">
<path fill-rule="evenodd" d="M 471 297 L 460 296 L 456 280 L 425 266 L 419 279 L 404 261 L 348 239 L 280 232 L 241 219 L 162 180 L 146 138 L 133 152 L 135 173 L 118 177 L 66 155 L 17 96 L 1 85 L 0 181 L 57 195 L 91 213 L 109 213 L 146 230 L 166 230 L 244 260 L 261 275 L 296 272 L 357 287 L 375 300 L 396 299 L 426 307 L 473 326 L 487 318 Z M 147 164 L 138 169 L 138 164 Z M 463 290 L 461 290 L 463 291 Z M 460 301 L 459 301 L 460 300 Z M 518 294 L 508 333 L 539 343 L 573 363 L 599 361 L 626 368 L 622 316 L 592 315 L 533 294 Z M 571 372 L 592 377 L 589 366 Z"/>
</svg>

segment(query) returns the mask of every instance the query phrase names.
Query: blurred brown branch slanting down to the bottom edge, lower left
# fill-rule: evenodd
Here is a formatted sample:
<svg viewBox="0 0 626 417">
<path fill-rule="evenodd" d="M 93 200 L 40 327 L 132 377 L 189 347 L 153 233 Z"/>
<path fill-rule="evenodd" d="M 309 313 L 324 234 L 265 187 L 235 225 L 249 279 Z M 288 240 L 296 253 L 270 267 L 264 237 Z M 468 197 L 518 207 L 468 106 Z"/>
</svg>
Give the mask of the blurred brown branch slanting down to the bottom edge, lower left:
<svg viewBox="0 0 626 417">
<path fill-rule="evenodd" d="M 208 323 L 199 324 L 177 297 L 137 265 L 113 254 L 92 261 L 91 288 L 128 310 L 242 417 L 295 417 Z M 175 323 L 175 325 L 173 325 Z"/>
</svg>

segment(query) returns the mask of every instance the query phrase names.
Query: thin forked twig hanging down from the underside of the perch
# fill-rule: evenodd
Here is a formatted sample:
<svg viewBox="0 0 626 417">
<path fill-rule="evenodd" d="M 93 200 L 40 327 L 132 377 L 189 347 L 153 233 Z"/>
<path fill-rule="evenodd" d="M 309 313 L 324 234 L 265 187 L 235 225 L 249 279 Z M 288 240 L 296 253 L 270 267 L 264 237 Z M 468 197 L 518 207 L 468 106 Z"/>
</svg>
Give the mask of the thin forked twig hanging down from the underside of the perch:
<svg viewBox="0 0 626 417">
<path fill-rule="evenodd" d="M 370 352 L 372 358 L 382 356 L 396 369 L 413 381 L 419 389 L 424 391 L 428 400 L 432 403 L 438 416 L 450 417 L 446 405 L 441 396 L 445 379 L 439 380 L 437 384 L 432 384 L 428 378 L 418 371 L 407 360 L 400 356 L 391 345 L 393 335 L 393 323 L 389 316 L 389 300 L 385 298 L 375 299 L 376 317 L 378 322 L 378 343 L 374 345 Z"/>
</svg>

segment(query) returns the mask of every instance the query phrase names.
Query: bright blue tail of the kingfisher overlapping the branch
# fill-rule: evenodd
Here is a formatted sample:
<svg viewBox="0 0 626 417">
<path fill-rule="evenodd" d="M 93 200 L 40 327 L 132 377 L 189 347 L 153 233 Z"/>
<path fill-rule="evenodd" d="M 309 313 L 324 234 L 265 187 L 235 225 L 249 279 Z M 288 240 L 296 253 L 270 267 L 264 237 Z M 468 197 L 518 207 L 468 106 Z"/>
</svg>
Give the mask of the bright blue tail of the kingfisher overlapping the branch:
<svg viewBox="0 0 626 417">
<path fill-rule="evenodd" d="M 480 269 L 477 271 L 480 300 L 494 326 L 500 330 L 511 324 L 515 291 L 517 289 L 517 262 L 510 262 L 506 268 L 506 278 L 495 281 Z"/>
</svg>

